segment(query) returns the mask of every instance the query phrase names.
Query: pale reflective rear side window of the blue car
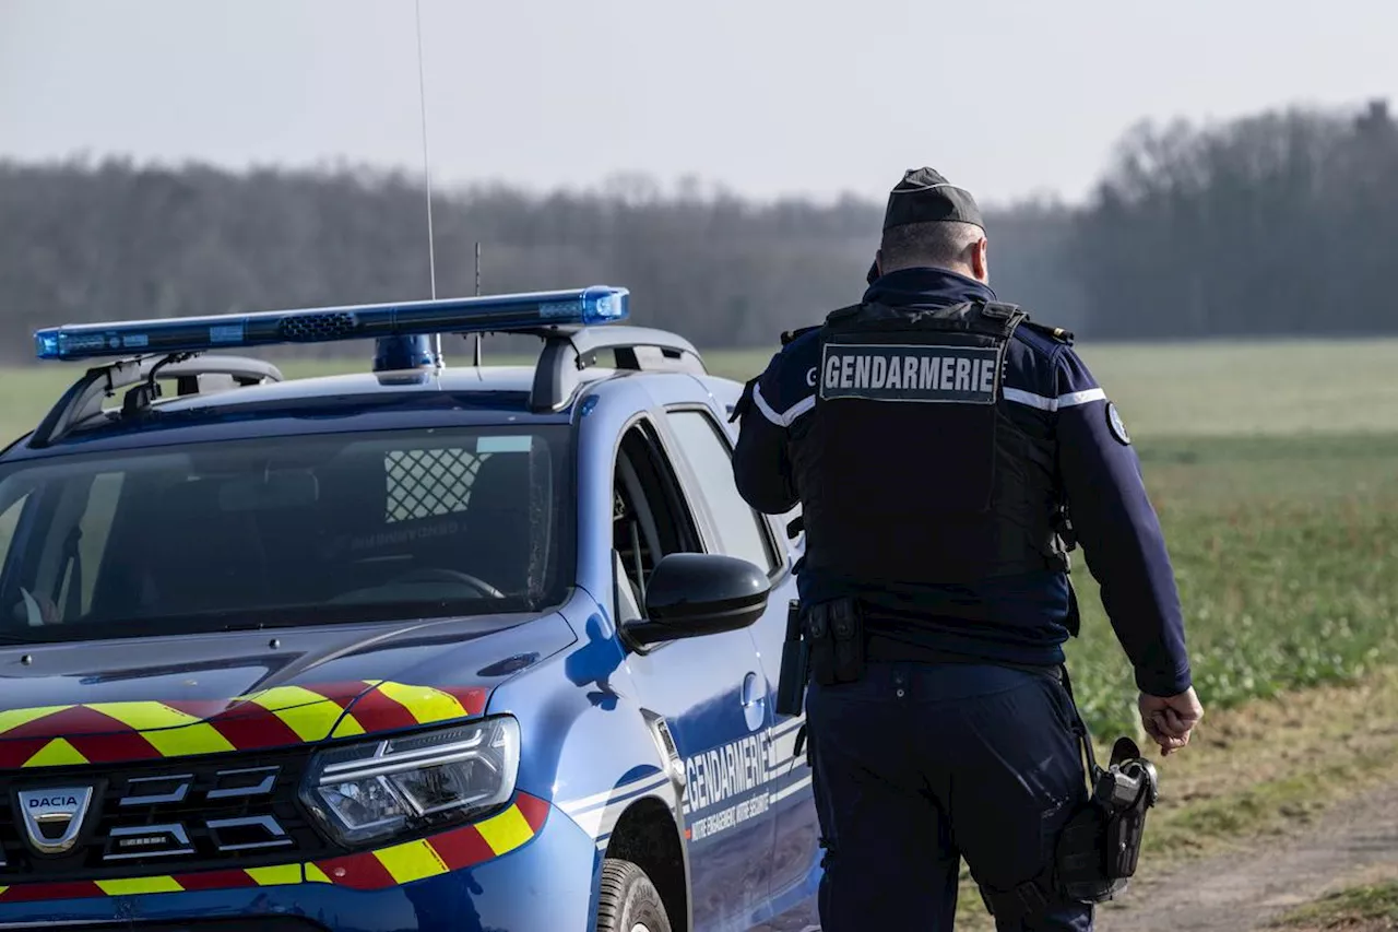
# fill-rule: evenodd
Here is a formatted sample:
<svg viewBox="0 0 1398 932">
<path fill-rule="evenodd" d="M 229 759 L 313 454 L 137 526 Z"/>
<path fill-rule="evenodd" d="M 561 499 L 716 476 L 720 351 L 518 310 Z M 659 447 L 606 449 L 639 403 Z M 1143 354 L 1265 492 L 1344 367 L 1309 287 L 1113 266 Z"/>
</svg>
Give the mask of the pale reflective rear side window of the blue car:
<svg viewBox="0 0 1398 932">
<path fill-rule="evenodd" d="M 762 518 L 742 500 L 733 480 L 733 452 L 719 425 L 703 411 L 671 411 L 670 428 L 713 511 L 721 551 L 747 560 L 766 572 L 776 570 Z"/>
</svg>

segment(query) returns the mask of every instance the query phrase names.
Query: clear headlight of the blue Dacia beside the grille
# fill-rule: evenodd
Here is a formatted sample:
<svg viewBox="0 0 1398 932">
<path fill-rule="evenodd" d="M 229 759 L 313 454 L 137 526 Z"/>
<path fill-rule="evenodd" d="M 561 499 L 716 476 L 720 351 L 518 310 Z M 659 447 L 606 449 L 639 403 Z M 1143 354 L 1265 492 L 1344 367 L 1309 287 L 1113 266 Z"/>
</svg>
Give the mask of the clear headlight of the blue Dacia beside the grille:
<svg viewBox="0 0 1398 932">
<path fill-rule="evenodd" d="M 471 725 L 322 751 L 301 798 L 345 845 L 468 820 L 514 795 L 519 722 Z"/>
</svg>

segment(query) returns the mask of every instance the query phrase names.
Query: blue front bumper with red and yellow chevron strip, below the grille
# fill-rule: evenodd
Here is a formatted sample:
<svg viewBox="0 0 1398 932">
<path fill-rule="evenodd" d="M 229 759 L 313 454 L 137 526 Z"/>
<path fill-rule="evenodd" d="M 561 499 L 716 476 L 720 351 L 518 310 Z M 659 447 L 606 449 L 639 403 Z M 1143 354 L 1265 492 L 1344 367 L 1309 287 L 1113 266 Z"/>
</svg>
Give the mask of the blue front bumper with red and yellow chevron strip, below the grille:
<svg viewBox="0 0 1398 932">
<path fill-rule="evenodd" d="M 0 929 L 73 926 L 145 932 L 561 932 L 591 928 L 596 842 L 533 800 L 530 837 L 503 855 L 468 833 L 433 856 L 421 842 L 376 855 L 250 872 L 143 877 L 108 884 L 24 884 L 0 893 Z M 491 844 L 496 842 L 484 831 Z M 370 858 L 370 861 L 365 861 Z M 470 866 L 457 866 L 470 863 Z M 253 883 L 226 886 L 231 875 Z M 194 880 L 203 877 L 203 880 Z M 408 880 L 407 877 L 421 877 Z M 401 880 L 401 882 L 400 882 Z M 200 889 L 200 884 L 206 884 Z M 217 889 L 208 889 L 214 886 Z M 150 891 L 143 891 L 150 890 Z"/>
</svg>

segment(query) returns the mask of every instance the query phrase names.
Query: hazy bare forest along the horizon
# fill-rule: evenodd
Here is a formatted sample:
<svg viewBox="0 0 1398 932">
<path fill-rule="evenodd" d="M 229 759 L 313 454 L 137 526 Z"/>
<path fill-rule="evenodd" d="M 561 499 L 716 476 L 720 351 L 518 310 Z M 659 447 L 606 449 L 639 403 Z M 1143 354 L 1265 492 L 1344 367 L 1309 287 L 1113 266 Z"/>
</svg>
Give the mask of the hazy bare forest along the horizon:
<svg viewBox="0 0 1398 932">
<path fill-rule="evenodd" d="M 480 241 L 485 292 L 621 284 L 636 323 L 705 348 L 772 346 L 858 298 L 881 214 L 642 176 L 439 190 L 438 291 L 474 292 Z M 1142 123 L 1085 203 L 998 206 L 987 227 L 1001 299 L 1081 336 L 1398 330 L 1398 126 L 1383 102 Z M 405 174 L 0 161 L 0 361 L 32 360 L 29 333 L 62 322 L 428 297 L 425 238 Z"/>
</svg>

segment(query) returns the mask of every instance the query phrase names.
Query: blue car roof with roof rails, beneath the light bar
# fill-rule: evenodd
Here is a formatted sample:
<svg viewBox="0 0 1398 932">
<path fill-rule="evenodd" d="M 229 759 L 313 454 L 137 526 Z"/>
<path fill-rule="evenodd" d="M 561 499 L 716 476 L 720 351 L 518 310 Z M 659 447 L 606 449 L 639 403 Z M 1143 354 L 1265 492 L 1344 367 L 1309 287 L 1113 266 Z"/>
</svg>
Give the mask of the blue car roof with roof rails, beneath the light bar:
<svg viewBox="0 0 1398 932">
<path fill-rule="evenodd" d="M 537 295 L 519 298 L 537 304 Z M 429 304 L 436 306 L 442 302 Z M 460 302 L 445 304 L 454 308 Z M 545 309 L 552 306 L 547 305 Z M 366 313 L 372 311 L 376 309 L 369 308 Z M 393 311 L 398 313 L 403 308 Z M 287 312 L 280 325 L 296 323 L 302 316 L 302 312 Z M 310 316 L 319 320 L 326 315 L 315 312 Z M 212 333 L 218 327 L 211 322 L 222 319 L 180 319 L 175 322 L 179 332 L 176 336 L 185 340 L 185 332 L 192 327 L 210 329 Z M 141 326 L 148 329 L 154 325 Z M 618 386 L 617 390 L 625 392 L 622 386 L 635 385 L 635 378 L 663 372 L 699 378 L 695 382 L 698 392 L 712 395 L 716 388 L 709 383 L 712 376 L 693 344 L 667 330 L 617 323 L 548 323 L 509 332 L 542 337 L 544 347 L 534 365 L 433 365 L 431 354 L 424 360 L 424 353 L 405 343 L 401 336 L 379 339 L 370 372 L 291 381 L 282 378 L 275 365 L 263 360 L 210 355 L 201 348 L 124 355 L 87 369 L 56 400 L 34 431 L 8 448 L 0 448 L 0 462 L 78 451 L 309 432 L 447 428 L 467 424 L 566 424 L 575 414 L 577 399 L 584 393 L 611 383 Z M 95 337 L 80 333 L 70 336 L 77 347 L 73 353 L 77 358 L 84 358 L 84 354 L 112 355 L 105 350 L 116 348 L 117 344 L 117 334 L 106 334 L 106 344 L 101 347 L 103 351 L 92 353 Z M 123 339 L 145 341 L 150 334 L 141 330 L 136 337 L 126 334 Z M 326 341 L 340 339 L 343 334 L 336 332 Z M 199 337 L 194 341 L 210 340 L 211 337 Z M 55 353 L 63 347 L 60 337 L 45 337 L 39 343 L 45 353 L 50 343 L 59 347 Z M 228 348 L 236 346 L 238 343 Z M 597 365 L 597 355 L 603 351 L 615 353 L 612 368 Z M 435 358 L 440 361 L 439 355 Z M 382 369 L 390 360 L 403 360 L 407 365 L 412 365 L 410 360 L 424 360 L 428 364 Z M 159 397 L 161 386 L 171 381 L 176 385 L 175 396 Z M 719 390 L 724 392 L 721 388 Z M 120 397 L 119 407 L 103 410 L 103 399 L 112 397 Z M 644 407 L 643 393 L 637 393 L 636 402 Z"/>
</svg>

